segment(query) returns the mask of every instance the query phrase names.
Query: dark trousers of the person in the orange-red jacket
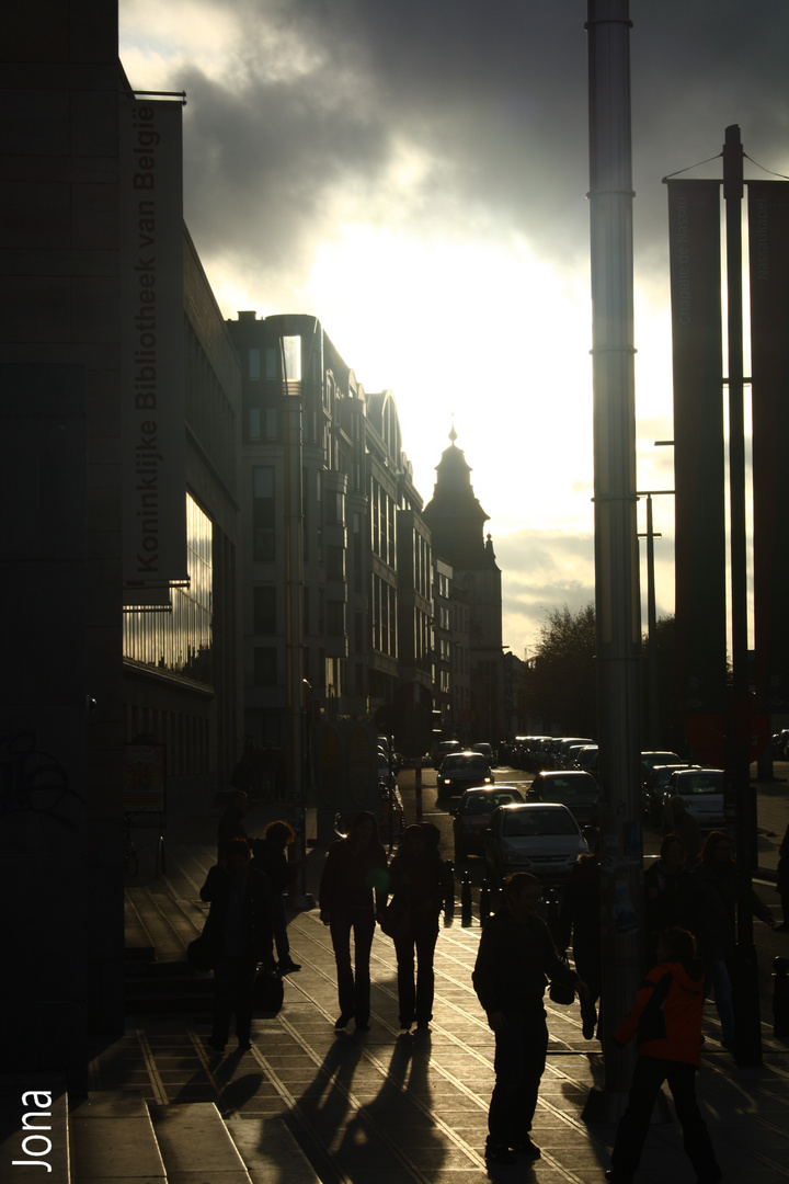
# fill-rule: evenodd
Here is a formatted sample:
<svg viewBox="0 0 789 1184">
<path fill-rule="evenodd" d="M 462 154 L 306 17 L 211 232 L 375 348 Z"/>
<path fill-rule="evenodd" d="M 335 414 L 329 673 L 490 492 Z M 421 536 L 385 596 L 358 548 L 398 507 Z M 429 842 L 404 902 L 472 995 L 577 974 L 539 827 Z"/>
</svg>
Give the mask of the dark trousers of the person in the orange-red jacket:
<svg viewBox="0 0 789 1184">
<path fill-rule="evenodd" d="M 664 1081 L 671 1088 L 677 1118 L 683 1127 L 685 1154 L 696 1169 L 696 1175 L 701 1184 L 720 1179 L 710 1132 L 696 1100 L 696 1066 L 684 1061 L 661 1061 L 654 1056 L 639 1056 L 635 1061 L 627 1109 L 619 1124 L 610 1157 L 616 1178 L 630 1180 L 635 1175 L 649 1130 L 652 1108 Z"/>
</svg>

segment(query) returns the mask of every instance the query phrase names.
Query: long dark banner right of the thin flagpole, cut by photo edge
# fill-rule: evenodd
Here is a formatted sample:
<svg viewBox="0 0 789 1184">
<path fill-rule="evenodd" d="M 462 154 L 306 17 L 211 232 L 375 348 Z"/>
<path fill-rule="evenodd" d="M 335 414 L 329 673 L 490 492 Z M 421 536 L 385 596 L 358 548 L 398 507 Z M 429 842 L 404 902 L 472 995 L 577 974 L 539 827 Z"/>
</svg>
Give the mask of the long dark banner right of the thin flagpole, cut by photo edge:
<svg viewBox="0 0 789 1184">
<path fill-rule="evenodd" d="M 754 623 L 759 707 L 789 712 L 789 181 L 748 182 Z"/>
</svg>

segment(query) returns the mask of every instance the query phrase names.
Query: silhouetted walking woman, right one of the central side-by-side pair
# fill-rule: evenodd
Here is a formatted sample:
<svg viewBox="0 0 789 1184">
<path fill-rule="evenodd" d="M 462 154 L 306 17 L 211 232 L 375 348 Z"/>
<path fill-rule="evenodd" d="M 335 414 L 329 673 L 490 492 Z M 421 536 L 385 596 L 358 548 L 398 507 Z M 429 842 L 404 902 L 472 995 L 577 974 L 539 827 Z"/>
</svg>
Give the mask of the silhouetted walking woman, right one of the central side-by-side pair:
<svg viewBox="0 0 789 1184">
<path fill-rule="evenodd" d="M 429 1030 L 433 1018 L 433 954 L 439 914 L 454 890 L 452 871 L 439 855 L 439 837 L 438 826 L 432 823 L 408 826 L 389 868 L 389 908 L 395 916 L 392 937 L 397 957 L 397 1000 L 403 1032 L 410 1031 L 414 1021 L 418 1030 Z"/>
</svg>

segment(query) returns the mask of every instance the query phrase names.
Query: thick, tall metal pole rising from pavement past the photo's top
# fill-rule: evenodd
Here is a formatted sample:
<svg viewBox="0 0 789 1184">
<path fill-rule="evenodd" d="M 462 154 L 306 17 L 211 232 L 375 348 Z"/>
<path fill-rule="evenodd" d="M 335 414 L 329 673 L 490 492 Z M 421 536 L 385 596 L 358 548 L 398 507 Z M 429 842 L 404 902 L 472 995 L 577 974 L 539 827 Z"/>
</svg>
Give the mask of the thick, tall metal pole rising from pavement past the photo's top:
<svg viewBox="0 0 789 1184">
<path fill-rule="evenodd" d="M 634 1057 L 630 1049 L 614 1044 L 613 1034 L 635 998 L 644 948 L 627 0 L 589 0 L 587 30 L 606 1077 L 602 1090 L 590 1092 L 584 1118 L 615 1121 L 626 1103 Z"/>
</svg>

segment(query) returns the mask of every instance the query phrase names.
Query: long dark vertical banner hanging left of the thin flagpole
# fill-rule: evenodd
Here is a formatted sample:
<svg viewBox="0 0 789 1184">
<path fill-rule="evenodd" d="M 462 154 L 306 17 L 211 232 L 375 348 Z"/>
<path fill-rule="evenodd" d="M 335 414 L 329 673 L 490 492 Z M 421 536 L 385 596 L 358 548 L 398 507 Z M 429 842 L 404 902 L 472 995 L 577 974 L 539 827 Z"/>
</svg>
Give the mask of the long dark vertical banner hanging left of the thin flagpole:
<svg viewBox="0 0 789 1184">
<path fill-rule="evenodd" d="M 719 712 L 726 676 L 720 185 L 668 181 L 680 714 Z"/>
</svg>

